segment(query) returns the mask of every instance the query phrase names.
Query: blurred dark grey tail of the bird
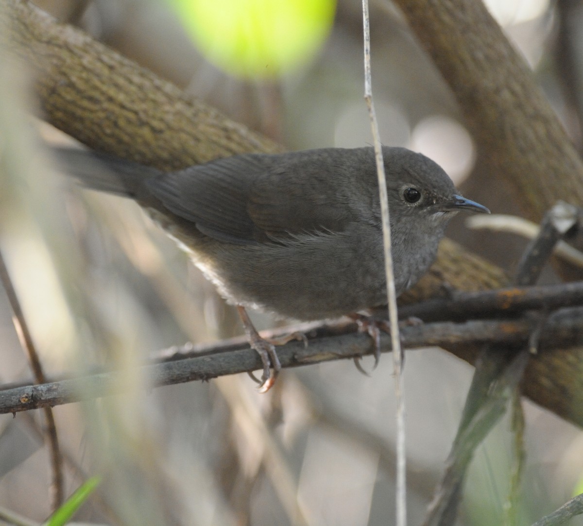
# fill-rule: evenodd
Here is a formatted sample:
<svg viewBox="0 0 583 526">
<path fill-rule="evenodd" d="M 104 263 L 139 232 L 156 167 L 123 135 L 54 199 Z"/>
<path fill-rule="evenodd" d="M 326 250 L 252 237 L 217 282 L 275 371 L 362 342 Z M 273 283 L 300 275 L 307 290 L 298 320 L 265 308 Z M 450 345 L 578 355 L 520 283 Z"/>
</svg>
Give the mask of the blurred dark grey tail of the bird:
<svg viewBox="0 0 583 526">
<path fill-rule="evenodd" d="M 138 197 L 143 183 L 161 174 L 155 168 L 93 150 L 62 147 L 54 153 L 66 173 L 83 186 L 124 197 Z"/>
</svg>

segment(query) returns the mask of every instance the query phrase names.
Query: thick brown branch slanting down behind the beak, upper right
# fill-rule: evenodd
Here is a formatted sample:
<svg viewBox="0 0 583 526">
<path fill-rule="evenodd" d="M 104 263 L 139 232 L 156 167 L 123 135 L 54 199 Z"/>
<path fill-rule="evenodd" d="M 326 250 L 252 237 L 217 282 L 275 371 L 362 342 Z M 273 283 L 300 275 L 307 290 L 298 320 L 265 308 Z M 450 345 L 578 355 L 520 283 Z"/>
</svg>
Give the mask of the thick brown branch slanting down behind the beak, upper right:
<svg viewBox="0 0 583 526">
<path fill-rule="evenodd" d="M 481 1 L 396 0 L 458 100 L 480 162 L 538 222 L 583 202 L 583 164 L 524 59 Z"/>
</svg>

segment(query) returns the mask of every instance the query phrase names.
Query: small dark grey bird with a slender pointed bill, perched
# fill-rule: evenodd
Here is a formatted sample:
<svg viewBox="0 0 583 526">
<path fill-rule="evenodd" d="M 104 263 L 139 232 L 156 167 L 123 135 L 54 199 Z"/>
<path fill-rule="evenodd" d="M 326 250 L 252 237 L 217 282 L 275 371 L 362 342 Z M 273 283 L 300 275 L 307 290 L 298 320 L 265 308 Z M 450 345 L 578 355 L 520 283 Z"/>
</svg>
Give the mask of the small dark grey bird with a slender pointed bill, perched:
<svg viewBox="0 0 583 526">
<path fill-rule="evenodd" d="M 312 321 L 386 304 L 371 147 L 244 153 L 176 171 L 90 149 L 57 156 L 86 188 L 134 199 L 237 307 L 261 356 L 262 392 L 281 366 L 248 308 Z M 428 157 L 394 146 L 382 156 L 398 295 L 427 272 L 456 213 L 490 211 L 462 197 Z"/>
</svg>

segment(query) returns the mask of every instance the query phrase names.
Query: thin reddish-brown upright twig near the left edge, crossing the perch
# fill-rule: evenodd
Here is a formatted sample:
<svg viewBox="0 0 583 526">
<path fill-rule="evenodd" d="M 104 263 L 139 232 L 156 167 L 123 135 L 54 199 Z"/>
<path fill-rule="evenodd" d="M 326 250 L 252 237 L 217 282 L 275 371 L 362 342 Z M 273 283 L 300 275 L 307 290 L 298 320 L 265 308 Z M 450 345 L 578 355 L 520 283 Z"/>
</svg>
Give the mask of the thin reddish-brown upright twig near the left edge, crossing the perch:
<svg viewBox="0 0 583 526">
<path fill-rule="evenodd" d="M 20 345 L 26 352 L 29 358 L 29 364 L 33 371 L 34 380 L 37 384 L 44 384 L 46 382 L 43 367 L 41 366 L 36 347 L 32 336 L 29 331 L 29 327 L 24 318 L 24 313 L 20 307 L 20 301 L 16 295 L 16 290 L 12 285 L 12 280 L 8 273 L 8 268 L 4 262 L 2 252 L 0 251 L 0 280 L 2 280 L 2 285 L 6 290 L 6 296 L 10 302 L 10 307 L 12 307 L 12 322 L 16 329 L 16 333 L 20 340 Z M 51 507 L 52 510 L 56 510 L 63 502 L 64 499 L 64 479 L 62 472 L 62 461 L 61 461 L 61 451 L 59 450 L 59 440 L 57 436 L 57 426 L 55 425 L 55 418 L 52 414 L 52 409 L 50 407 L 44 408 L 44 416 L 47 420 L 47 427 L 45 429 L 45 438 L 49 445 L 49 454 L 51 459 Z"/>
</svg>

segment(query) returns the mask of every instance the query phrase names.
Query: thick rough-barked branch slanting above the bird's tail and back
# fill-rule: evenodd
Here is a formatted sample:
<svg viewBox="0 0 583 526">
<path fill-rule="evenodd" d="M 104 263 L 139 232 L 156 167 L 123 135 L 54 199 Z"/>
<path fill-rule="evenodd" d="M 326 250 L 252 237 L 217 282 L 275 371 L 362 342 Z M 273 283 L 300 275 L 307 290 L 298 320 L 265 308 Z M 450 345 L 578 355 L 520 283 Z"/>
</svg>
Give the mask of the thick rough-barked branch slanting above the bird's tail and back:
<svg viewBox="0 0 583 526">
<path fill-rule="evenodd" d="M 31 3 L 7 3 L 8 44 L 35 70 L 44 117 L 91 148 L 163 169 L 280 149 Z"/>
</svg>

